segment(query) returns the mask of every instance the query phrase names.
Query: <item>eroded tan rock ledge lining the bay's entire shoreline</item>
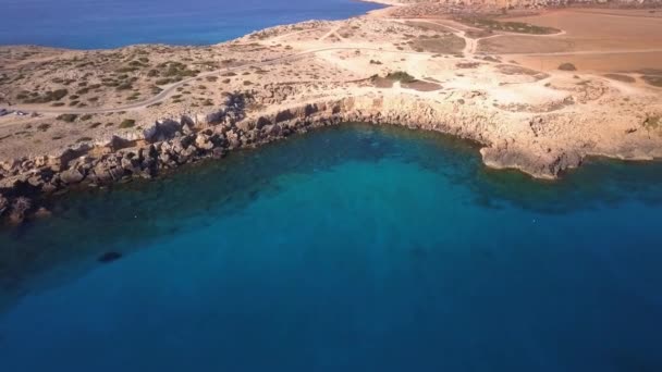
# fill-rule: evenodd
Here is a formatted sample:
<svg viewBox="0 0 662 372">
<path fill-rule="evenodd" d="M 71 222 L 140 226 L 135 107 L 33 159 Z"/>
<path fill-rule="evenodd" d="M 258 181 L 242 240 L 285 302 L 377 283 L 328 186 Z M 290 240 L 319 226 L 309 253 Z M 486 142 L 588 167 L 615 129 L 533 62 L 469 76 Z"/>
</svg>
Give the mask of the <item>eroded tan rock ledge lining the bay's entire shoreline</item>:
<svg viewBox="0 0 662 372">
<path fill-rule="evenodd" d="M 480 92 L 473 95 L 479 97 Z M 96 146 L 81 145 L 56 156 L 2 163 L 0 216 L 19 224 L 32 215 L 48 215 L 40 202 L 74 186 L 151 178 L 201 159 L 222 158 L 228 151 L 345 122 L 404 125 L 471 139 L 482 146 L 480 153 L 487 165 L 518 169 L 539 178 L 556 178 L 590 154 L 662 157 L 660 137 L 640 129 L 650 119 L 641 123 L 637 115 L 606 117 L 596 112 L 590 120 L 576 121 L 560 114 L 506 115 L 473 107 L 462 97 L 441 102 L 406 94 L 369 94 L 246 115 L 232 102 L 242 97 L 231 97 L 224 109 L 203 119 L 158 121 L 126 138 L 113 136 Z M 615 141 L 574 137 L 584 131 L 583 125 L 594 121 L 622 126 L 623 136 Z"/>
</svg>

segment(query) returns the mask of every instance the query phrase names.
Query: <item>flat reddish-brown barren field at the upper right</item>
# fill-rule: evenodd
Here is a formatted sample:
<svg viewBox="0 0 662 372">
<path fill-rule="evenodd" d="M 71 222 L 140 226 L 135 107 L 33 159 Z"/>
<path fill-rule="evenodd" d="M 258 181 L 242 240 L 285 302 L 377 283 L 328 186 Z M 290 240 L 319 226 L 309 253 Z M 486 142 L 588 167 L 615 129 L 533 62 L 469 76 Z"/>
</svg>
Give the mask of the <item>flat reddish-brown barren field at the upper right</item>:
<svg viewBox="0 0 662 372">
<path fill-rule="evenodd" d="M 532 69 L 572 63 L 580 71 L 636 72 L 662 65 L 662 17 L 648 10 L 559 10 L 507 18 L 563 30 L 557 36 L 500 35 L 478 50 Z M 507 57 L 506 57 L 507 55 Z"/>
</svg>

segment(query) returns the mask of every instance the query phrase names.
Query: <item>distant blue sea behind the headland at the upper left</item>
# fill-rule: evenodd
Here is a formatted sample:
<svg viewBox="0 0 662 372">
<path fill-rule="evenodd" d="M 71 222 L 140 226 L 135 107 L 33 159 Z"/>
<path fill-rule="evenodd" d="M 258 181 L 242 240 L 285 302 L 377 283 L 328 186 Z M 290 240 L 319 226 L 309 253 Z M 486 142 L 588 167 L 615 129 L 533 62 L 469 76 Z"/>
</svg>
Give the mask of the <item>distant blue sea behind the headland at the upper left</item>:
<svg viewBox="0 0 662 372">
<path fill-rule="evenodd" d="M 2 0 L 0 45 L 210 45 L 274 25 L 346 18 L 377 8 L 355 0 Z"/>
</svg>

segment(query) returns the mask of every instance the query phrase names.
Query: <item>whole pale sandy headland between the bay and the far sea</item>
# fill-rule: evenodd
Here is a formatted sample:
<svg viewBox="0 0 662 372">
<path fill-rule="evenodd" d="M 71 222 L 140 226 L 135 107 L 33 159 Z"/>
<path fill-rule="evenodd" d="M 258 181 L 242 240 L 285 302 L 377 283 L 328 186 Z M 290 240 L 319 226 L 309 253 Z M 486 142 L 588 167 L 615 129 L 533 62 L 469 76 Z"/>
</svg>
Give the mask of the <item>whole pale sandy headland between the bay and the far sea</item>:
<svg viewBox="0 0 662 372">
<path fill-rule="evenodd" d="M 72 179 L 95 184 L 99 172 L 145 176 L 134 160 L 154 144 L 150 151 L 164 152 L 149 174 L 214 147 L 256 146 L 351 120 L 471 138 L 486 164 L 544 178 L 587 156 L 662 157 L 655 13 L 563 10 L 467 21 L 439 7 L 425 14 L 428 7 L 397 7 L 413 17 L 390 10 L 304 22 L 210 47 L 1 47 L 0 109 L 27 115 L 0 116 L 0 194 L 26 183 L 51 191 Z M 559 70 L 568 62 L 573 69 Z M 160 133 L 162 123 L 179 129 Z M 184 157 L 188 140 L 196 147 Z M 93 171 L 97 163 L 114 171 Z"/>
</svg>

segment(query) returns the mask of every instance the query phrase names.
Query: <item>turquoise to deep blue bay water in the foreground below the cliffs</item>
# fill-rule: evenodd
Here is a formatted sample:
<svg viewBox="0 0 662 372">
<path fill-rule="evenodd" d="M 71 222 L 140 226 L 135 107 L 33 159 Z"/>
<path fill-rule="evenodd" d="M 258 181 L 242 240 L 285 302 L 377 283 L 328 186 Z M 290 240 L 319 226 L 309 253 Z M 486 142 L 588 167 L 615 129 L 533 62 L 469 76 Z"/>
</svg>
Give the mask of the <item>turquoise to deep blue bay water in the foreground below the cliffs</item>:
<svg viewBox="0 0 662 372">
<path fill-rule="evenodd" d="M 347 125 L 52 209 L 0 232 L 3 371 L 662 371 L 661 163 Z"/>
</svg>

